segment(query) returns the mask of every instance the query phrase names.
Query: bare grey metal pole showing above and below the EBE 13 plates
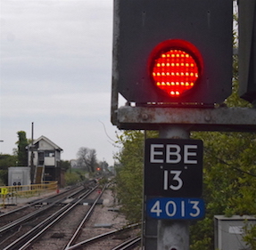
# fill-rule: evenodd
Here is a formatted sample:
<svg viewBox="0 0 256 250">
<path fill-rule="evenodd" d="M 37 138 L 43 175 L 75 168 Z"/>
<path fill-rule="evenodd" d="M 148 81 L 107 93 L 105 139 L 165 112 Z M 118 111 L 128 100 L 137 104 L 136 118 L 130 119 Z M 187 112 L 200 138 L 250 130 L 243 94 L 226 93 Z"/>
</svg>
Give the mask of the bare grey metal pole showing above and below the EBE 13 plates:
<svg viewBox="0 0 256 250">
<path fill-rule="evenodd" d="M 189 139 L 187 126 L 167 125 L 160 129 L 160 138 Z M 188 250 L 189 223 L 187 221 L 158 221 L 157 250 Z"/>
</svg>

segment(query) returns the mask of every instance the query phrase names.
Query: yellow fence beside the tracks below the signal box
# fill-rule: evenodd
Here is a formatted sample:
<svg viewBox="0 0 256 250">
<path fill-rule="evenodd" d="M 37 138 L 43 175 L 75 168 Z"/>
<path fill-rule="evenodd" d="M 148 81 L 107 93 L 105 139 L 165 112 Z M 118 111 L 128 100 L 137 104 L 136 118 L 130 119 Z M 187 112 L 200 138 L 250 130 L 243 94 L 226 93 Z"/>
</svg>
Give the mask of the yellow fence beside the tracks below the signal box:
<svg viewBox="0 0 256 250">
<path fill-rule="evenodd" d="M 47 181 L 41 184 L 21 186 L 3 186 L 0 187 L 0 198 L 29 198 L 39 196 L 53 190 L 58 190 L 58 181 Z"/>
</svg>

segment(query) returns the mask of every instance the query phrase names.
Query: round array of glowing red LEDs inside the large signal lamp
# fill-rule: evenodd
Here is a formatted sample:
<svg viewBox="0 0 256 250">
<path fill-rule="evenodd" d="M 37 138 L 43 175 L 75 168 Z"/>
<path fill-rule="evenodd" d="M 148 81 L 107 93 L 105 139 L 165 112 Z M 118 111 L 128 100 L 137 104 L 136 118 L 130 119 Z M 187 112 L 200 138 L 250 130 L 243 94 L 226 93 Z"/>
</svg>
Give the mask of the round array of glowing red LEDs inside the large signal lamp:
<svg viewBox="0 0 256 250">
<path fill-rule="evenodd" d="M 152 76 L 155 85 L 171 96 L 180 96 L 191 89 L 198 78 L 194 58 L 181 50 L 161 52 L 154 60 Z"/>
</svg>

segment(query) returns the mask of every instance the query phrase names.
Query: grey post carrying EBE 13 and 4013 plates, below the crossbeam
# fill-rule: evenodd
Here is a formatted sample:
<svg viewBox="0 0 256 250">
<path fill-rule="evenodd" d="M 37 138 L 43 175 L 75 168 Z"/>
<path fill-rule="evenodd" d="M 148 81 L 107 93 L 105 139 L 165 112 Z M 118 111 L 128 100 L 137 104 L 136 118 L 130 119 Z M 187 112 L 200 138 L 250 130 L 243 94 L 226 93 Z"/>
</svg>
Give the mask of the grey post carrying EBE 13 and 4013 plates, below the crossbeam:
<svg viewBox="0 0 256 250">
<path fill-rule="evenodd" d="M 189 249 L 188 221 L 204 216 L 202 141 L 175 125 L 160 137 L 145 141 L 145 218 L 158 220 L 157 249 Z M 145 249 L 153 247 L 145 239 Z"/>
</svg>

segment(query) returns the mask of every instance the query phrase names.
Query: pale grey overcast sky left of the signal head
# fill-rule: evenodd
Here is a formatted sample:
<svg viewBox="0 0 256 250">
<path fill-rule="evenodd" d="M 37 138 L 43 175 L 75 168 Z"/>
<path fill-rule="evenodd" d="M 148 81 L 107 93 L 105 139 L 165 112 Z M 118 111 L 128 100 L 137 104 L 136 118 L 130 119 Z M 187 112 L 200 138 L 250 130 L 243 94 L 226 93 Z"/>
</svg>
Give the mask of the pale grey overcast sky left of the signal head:
<svg viewBox="0 0 256 250">
<path fill-rule="evenodd" d="M 111 165 L 112 0 L 0 3 L 0 153 L 34 122 L 34 139 L 54 141 L 62 159 L 87 147 Z"/>
</svg>

